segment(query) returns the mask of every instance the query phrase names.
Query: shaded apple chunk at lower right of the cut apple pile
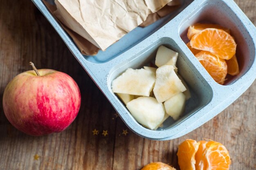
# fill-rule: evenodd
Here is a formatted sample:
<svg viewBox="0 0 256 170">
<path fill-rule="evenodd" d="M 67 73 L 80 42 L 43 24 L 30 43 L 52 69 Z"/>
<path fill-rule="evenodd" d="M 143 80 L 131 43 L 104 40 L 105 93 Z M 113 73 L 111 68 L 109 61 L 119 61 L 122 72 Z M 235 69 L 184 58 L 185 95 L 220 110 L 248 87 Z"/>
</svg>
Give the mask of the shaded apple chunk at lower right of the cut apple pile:
<svg viewBox="0 0 256 170">
<path fill-rule="evenodd" d="M 184 112 L 185 103 L 186 96 L 183 93 L 178 93 L 164 102 L 166 113 L 177 120 Z"/>
</svg>

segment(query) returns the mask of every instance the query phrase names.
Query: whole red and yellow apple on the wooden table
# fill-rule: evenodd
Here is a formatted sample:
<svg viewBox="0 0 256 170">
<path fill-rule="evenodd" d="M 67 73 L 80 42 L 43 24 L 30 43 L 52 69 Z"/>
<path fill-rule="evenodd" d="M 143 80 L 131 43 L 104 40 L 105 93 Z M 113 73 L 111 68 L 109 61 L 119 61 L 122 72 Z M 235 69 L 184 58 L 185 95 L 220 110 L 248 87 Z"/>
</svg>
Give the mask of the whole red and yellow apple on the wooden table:
<svg viewBox="0 0 256 170">
<path fill-rule="evenodd" d="M 14 77 L 3 95 L 4 114 L 18 130 L 40 136 L 65 130 L 81 105 L 78 85 L 69 75 L 51 70 L 26 71 Z"/>
</svg>

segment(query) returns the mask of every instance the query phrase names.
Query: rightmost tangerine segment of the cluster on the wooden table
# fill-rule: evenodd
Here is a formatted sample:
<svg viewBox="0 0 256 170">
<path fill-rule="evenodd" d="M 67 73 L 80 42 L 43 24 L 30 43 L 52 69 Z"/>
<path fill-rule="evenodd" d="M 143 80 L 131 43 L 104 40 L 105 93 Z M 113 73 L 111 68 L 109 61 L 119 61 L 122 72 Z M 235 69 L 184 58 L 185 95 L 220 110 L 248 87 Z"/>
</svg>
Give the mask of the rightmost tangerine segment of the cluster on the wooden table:
<svg viewBox="0 0 256 170">
<path fill-rule="evenodd" d="M 206 163 L 205 170 L 229 170 L 231 164 L 229 151 L 216 141 L 207 142 L 202 161 Z"/>
</svg>

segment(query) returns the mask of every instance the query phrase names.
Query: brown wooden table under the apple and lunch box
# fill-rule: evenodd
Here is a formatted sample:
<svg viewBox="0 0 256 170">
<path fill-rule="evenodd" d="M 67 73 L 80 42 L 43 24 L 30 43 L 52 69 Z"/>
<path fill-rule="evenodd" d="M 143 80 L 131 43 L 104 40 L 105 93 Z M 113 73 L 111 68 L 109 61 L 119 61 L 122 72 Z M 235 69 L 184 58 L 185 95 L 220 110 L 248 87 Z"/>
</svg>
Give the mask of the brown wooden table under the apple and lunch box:
<svg viewBox="0 0 256 170">
<path fill-rule="evenodd" d="M 256 1 L 235 1 L 256 24 Z M 81 89 L 79 115 L 61 133 L 31 137 L 16 130 L 4 116 L 4 88 L 18 73 L 31 69 L 30 61 L 38 68 L 71 75 Z M 219 141 L 230 152 L 231 170 L 255 170 L 255 101 L 256 83 L 234 104 L 184 137 L 143 139 L 115 116 L 106 97 L 30 0 L 0 0 L 0 170 L 139 170 L 152 161 L 179 169 L 177 146 L 188 138 Z M 99 135 L 93 135 L 94 128 Z M 106 137 L 103 130 L 108 130 Z"/>
</svg>

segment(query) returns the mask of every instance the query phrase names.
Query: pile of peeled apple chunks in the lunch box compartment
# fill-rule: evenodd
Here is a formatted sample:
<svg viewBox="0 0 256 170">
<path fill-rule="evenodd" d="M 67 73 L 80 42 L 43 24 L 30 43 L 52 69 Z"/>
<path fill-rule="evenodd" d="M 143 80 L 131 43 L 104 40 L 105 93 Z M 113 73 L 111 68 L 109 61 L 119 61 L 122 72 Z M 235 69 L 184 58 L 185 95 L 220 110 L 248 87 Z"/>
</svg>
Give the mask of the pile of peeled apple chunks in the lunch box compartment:
<svg viewBox="0 0 256 170">
<path fill-rule="evenodd" d="M 178 53 L 160 46 L 155 65 L 128 68 L 112 82 L 112 91 L 143 126 L 156 130 L 171 116 L 177 120 L 191 97 L 184 79 L 177 73 Z"/>
</svg>

